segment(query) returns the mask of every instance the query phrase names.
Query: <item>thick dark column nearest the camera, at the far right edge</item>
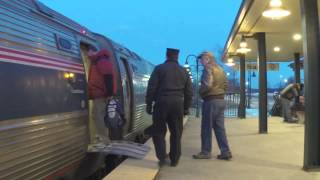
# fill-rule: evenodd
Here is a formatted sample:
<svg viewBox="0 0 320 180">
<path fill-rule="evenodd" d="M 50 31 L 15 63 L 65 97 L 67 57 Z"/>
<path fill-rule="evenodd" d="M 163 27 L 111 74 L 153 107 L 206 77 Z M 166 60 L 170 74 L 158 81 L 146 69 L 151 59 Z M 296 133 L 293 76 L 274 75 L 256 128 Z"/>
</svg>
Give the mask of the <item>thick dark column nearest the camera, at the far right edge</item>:
<svg viewBox="0 0 320 180">
<path fill-rule="evenodd" d="M 320 167 L 320 32 L 317 0 L 300 0 L 305 68 L 304 169 Z"/>
</svg>

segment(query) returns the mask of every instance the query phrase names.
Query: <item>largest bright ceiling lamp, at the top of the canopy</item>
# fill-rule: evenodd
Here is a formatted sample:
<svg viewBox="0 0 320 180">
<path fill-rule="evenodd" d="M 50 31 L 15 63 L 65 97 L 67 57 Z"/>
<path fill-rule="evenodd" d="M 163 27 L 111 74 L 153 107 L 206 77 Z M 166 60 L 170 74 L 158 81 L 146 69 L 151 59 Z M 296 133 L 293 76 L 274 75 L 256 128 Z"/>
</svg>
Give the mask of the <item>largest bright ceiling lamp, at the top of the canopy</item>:
<svg viewBox="0 0 320 180">
<path fill-rule="evenodd" d="M 270 0 L 269 6 L 270 8 L 262 13 L 264 17 L 278 20 L 291 14 L 289 10 L 282 8 L 281 0 Z"/>
</svg>

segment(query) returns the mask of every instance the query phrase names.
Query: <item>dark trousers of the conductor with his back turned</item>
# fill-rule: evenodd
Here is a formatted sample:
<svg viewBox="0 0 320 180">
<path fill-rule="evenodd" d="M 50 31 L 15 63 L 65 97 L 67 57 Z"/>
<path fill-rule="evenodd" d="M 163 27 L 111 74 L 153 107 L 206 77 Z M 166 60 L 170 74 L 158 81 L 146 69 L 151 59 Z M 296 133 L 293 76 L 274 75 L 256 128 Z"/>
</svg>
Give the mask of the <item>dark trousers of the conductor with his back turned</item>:
<svg viewBox="0 0 320 180">
<path fill-rule="evenodd" d="M 181 136 L 183 131 L 183 99 L 180 97 L 165 96 L 156 101 L 153 113 L 153 143 L 157 158 L 166 158 L 167 125 L 170 131 L 171 162 L 177 162 L 181 156 Z"/>
</svg>

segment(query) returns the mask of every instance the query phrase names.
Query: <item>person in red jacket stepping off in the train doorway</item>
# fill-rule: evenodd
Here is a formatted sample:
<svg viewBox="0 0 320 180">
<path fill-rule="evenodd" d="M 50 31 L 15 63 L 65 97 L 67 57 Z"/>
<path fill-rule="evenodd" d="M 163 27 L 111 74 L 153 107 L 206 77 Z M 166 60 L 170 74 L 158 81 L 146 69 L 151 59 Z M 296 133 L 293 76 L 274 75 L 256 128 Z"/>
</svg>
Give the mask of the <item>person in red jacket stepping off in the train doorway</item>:
<svg viewBox="0 0 320 180">
<path fill-rule="evenodd" d="M 117 91 L 115 68 L 110 59 L 111 53 L 106 49 L 96 51 L 94 47 L 89 47 L 88 56 L 90 59 L 88 91 L 89 99 L 93 100 L 92 115 L 96 126 L 96 136 L 92 137 L 92 141 L 108 144 L 109 130 L 104 124 L 104 117 L 107 101 Z"/>
</svg>

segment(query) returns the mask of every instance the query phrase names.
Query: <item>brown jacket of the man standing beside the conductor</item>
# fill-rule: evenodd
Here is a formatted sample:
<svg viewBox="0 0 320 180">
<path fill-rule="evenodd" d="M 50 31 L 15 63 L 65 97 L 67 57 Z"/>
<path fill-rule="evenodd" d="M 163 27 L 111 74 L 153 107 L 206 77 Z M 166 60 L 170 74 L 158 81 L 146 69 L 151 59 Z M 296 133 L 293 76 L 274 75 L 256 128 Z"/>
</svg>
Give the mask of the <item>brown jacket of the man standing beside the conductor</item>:
<svg viewBox="0 0 320 180">
<path fill-rule="evenodd" d="M 220 66 L 217 65 L 204 68 L 199 89 L 200 96 L 203 99 L 213 96 L 223 97 L 227 90 L 227 86 L 227 77 Z"/>
</svg>

